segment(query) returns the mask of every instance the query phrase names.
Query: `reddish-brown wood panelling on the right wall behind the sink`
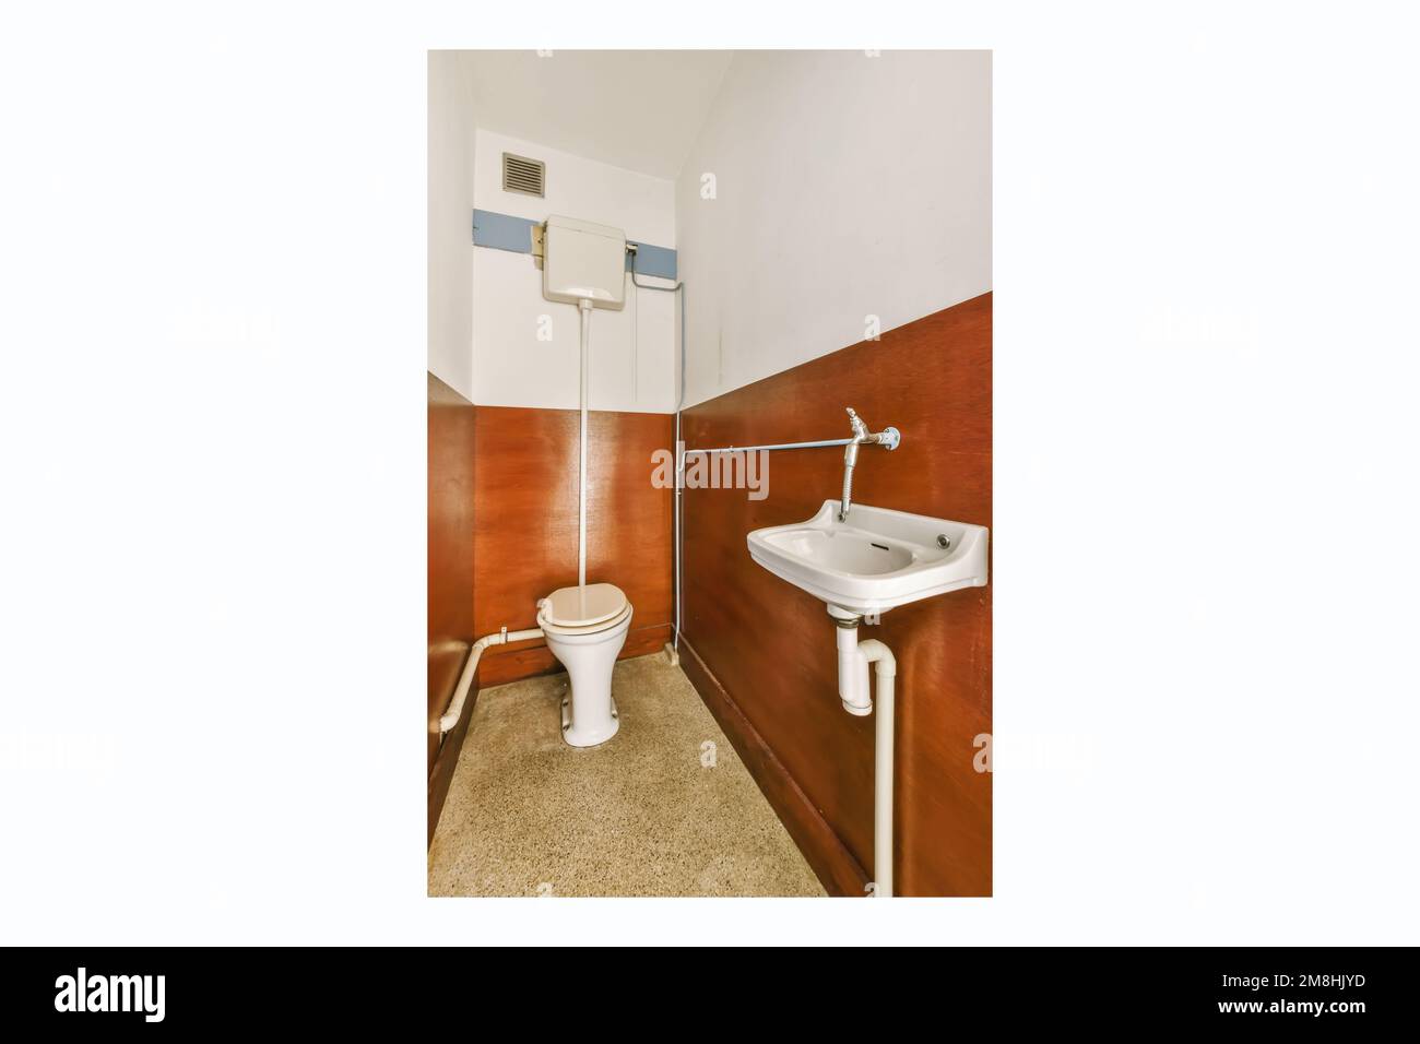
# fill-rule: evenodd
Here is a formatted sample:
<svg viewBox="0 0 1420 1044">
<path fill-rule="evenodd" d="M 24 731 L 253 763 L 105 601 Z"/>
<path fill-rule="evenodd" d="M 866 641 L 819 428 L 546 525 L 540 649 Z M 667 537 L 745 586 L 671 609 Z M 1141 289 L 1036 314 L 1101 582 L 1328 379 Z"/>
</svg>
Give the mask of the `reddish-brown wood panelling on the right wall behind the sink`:
<svg viewBox="0 0 1420 1044">
<path fill-rule="evenodd" d="M 845 406 L 903 435 L 890 453 L 861 450 L 856 503 L 991 526 L 990 294 L 700 403 L 683 432 L 689 447 L 846 437 Z M 875 719 L 842 710 L 824 604 L 755 565 L 744 540 L 836 500 L 842 469 L 841 449 L 785 450 L 763 501 L 684 493 L 682 653 L 825 888 L 862 895 Z M 897 892 L 990 895 L 991 777 L 974 739 L 991 730 L 991 587 L 893 609 L 869 636 L 897 658 Z"/>
</svg>

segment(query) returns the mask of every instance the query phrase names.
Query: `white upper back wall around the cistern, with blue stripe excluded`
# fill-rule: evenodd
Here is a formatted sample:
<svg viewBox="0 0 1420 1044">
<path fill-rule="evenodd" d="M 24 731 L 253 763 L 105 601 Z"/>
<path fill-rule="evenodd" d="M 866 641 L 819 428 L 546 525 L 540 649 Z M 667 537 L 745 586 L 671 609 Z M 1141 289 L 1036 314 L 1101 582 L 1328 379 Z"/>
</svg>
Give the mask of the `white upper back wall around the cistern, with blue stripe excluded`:
<svg viewBox="0 0 1420 1044">
<path fill-rule="evenodd" d="M 504 151 L 547 163 L 545 199 L 503 190 Z M 481 210 L 535 220 L 581 217 L 623 229 L 628 239 L 676 246 L 674 183 L 662 178 L 480 129 L 473 185 L 474 205 Z M 542 271 L 531 254 L 488 247 L 473 251 L 473 315 L 474 402 L 577 408 L 577 307 L 542 297 Z M 537 337 L 541 315 L 552 320 L 551 341 Z M 673 294 L 629 286 L 625 308 L 594 311 L 592 409 L 674 410 L 674 322 Z"/>
</svg>

